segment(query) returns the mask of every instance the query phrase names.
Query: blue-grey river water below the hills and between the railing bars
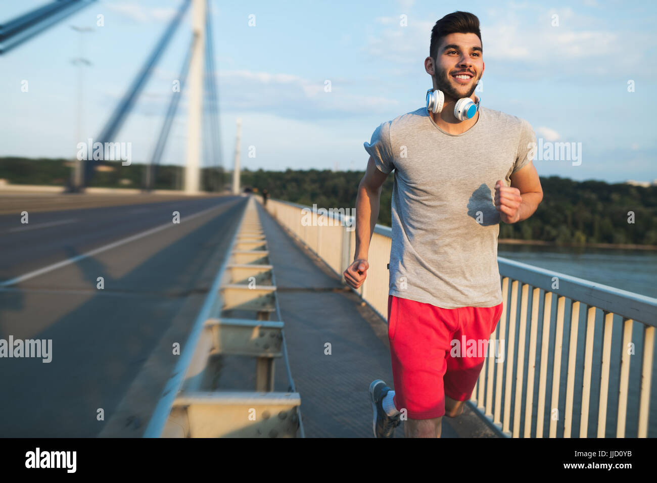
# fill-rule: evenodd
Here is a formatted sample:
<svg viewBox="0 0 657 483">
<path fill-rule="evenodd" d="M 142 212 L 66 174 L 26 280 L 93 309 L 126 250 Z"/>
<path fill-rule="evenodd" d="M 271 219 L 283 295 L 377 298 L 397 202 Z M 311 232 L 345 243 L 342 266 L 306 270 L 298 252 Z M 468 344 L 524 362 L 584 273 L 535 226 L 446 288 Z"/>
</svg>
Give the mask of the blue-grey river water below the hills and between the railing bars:
<svg viewBox="0 0 657 483">
<path fill-rule="evenodd" d="M 545 246 L 527 246 L 527 245 L 509 245 L 500 244 L 498 254 L 501 257 L 509 258 L 537 267 L 557 271 L 566 275 L 572 275 L 581 279 L 602 283 L 611 287 L 621 288 L 629 292 L 635 292 L 645 296 L 657 298 L 657 252 L 639 251 L 639 250 L 615 250 L 615 249 L 582 249 L 582 248 L 558 248 Z M 509 287 L 510 288 L 510 287 Z M 509 290 L 510 292 L 510 290 Z M 506 304 L 509 304 L 510 297 Z M 568 371 L 568 348 L 570 345 L 571 335 L 571 303 L 566 300 L 564 330 L 562 340 L 562 351 L 560 354 L 560 388 L 558 398 L 558 423 L 557 437 L 564 434 L 564 416 L 566 407 L 566 375 Z M 520 290 L 518 290 L 518 310 L 520 308 Z M 584 365 L 584 346 L 587 334 L 587 319 L 585 304 L 580 304 L 579 323 L 577 332 L 577 357 L 575 364 L 575 383 L 574 383 L 574 400 L 572 411 L 572 437 L 579 437 L 579 428 L 581 425 L 581 400 L 583 384 L 583 365 Z M 519 311 L 518 311 L 519 313 Z M 532 292 L 530 291 L 530 300 L 528 304 L 528 323 L 529 315 L 532 313 Z M 543 296 L 539 301 L 539 313 L 543 313 Z M 535 375 L 533 379 L 533 407 L 532 413 L 532 437 L 535 436 L 536 418 L 535 414 L 538 399 L 539 388 L 539 367 L 541 357 L 547 357 L 547 374 L 546 374 L 546 403 L 545 414 L 543 415 L 543 436 L 547 437 L 547 431 L 551 423 L 551 392 L 553 380 L 553 363 L 555 347 L 555 330 L 556 330 L 556 296 L 553 297 L 552 304 L 552 322 L 549 344 L 546 351 L 541 354 L 541 336 L 543 333 L 542 317 L 539 317 L 537 327 L 537 349 L 535 363 Z M 516 340 L 513 371 L 517 370 L 517 352 L 518 352 L 518 329 L 519 318 L 516 320 Z M 498 327 L 499 329 L 499 327 Z M 600 354 L 602 351 L 602 332 L 603 321 L 602 311 L 597 310 L 595 319 L 593 357 L 591 370 L 591 396 L 589 405 L 587 437 L 595 438 L 598 423 L 599 402 L 600 402 Z M 634 322 L 632 326 L 632 342 L 635 344 L 635 355 L 629 357 L 629 384 L 627 398 L 627 416 L 625 418 L 625 436 L 635 437 L 637 434 L 637 419 L 639 414 L 639 394 L 641 390 L 641 357 L 643 355 L 643 330 L 644 325 Z M 507 322 L 507 336 L 509 327 Z M 527 327 L 524 350 L 524 376 L 526 377 L 529 367 L 529 345 L 530 345 L 530 328 Z M 616 436 L 616 425 L 618 423 L 618 380 L 620 375 L 620 359 L 622 345 L 622 318 L 614 317 L 614 327 L 612 329 L 612 354 L 610 356 L 609 370 L 609 388 L 606 394 L 606 430 L 605 436 L 613 438 Z M 491 360 L 491 359 L 488 359 Z M 497 370 L 497 368 L 495 368 Z M 504 378 L 506 379 L 506 370 Z M 652 384 L 650 390 L 650 417 L 648 421 L 648 436 L 657 436 L 657 357 L 653 358 Z M 515 378 L 514 378 L 515 379 Z M 511 398 L 514 400 L 516 392 L 515 380 L 512 385 Z M 527 383 L 524 382 L 522 387 L 522 408 L 526 401 Z M 502 401 L 505 394 L 503 391 Z M 511 427 L 515 422 L 511 418 Z M 521 411 L 520 435 L 522 436 L 525 425 L 524 412 Z"/>
</svg>

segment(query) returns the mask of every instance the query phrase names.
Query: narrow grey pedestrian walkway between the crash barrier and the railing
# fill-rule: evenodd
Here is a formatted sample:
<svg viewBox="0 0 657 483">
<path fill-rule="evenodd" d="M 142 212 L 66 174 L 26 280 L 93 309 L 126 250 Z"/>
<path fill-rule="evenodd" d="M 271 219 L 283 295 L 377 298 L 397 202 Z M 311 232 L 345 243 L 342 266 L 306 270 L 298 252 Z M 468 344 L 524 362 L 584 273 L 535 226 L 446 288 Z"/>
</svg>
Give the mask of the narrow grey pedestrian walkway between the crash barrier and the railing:
<svg viewBox="0 0 657 483">
<path fill-rule="evenodd" d="M 307 438 L 372 438 L 367 389 L 392 385 L 388 329 L 315 254 L 258 205 Z M 403 425 L 396 430 L 403 438 Z M 443 418 L 443 438 L 495 437 L 469 407 Z"/>
</svg>

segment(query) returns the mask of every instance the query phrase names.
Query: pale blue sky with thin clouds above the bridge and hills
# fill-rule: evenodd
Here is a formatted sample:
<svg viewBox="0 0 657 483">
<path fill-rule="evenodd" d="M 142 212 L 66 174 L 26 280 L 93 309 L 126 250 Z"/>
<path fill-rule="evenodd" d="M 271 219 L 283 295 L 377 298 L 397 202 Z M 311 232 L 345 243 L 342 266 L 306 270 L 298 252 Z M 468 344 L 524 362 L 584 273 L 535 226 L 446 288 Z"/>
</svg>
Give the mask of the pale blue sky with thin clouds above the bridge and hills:
<svg viewBox="0 0 657 483">
<path fill-rule="evenodd" d="M 5 1 L 0 22 L 45 3 Z M 98 1 L 1 56 L 0 156 L 75 156 L 78 67 L 71 60 L 80 55 L 80 35 L 83 55 L 93 63 L 83 89 L 81 138 L 87 139 L 100 134 L 180 3 Z M 243 167 L 363 170 L 368 157 L 363 142 L 376 126 L 424 104 L 431 87 L 424 58 L 433 24 L 464 10 L 482 25 L 483 104 L 525 118 L 545 141 L 582 143 L 579 166 L 536 160 L 540 175 L 609 182 L 657 178 L 652 1 L 212 0 L 212 5 L 227 168 L 239 117 Z M 255 26 L 248 25 L 250 14 Z M 78 34 L 72 25 L 93 32 Z M 135 163 L 150 157 L 190 25 L 188 13 L 116 138 L 132 143 Z M 20 89 L 23 80 L 28 92 Z M 629 80 L 634 92 L 628 92 Z M 184 163 L 186 112 L 183 93 L 163 164 Z M 248 157 L 250 146 L 254 158 Z"/>
</svg>

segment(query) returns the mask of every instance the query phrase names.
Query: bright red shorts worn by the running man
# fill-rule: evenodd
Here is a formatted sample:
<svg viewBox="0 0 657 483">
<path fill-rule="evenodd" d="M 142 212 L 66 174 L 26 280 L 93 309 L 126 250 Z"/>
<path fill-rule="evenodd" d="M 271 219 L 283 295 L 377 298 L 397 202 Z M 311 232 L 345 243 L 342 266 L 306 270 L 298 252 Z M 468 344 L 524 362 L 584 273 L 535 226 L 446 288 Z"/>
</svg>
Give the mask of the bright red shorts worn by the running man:
<svg viewBox="0 0 657 483">
<path fill-rule="evenodd" d="M 494 349 L 484 341 L 501 315 L 502 304 L 443 309 L 388 295 L 397 409 L 406 409 L 409 419 L 434 419 L 445 415 L 445 394 L 468 400 L 488 351 Z"/>
</svg>

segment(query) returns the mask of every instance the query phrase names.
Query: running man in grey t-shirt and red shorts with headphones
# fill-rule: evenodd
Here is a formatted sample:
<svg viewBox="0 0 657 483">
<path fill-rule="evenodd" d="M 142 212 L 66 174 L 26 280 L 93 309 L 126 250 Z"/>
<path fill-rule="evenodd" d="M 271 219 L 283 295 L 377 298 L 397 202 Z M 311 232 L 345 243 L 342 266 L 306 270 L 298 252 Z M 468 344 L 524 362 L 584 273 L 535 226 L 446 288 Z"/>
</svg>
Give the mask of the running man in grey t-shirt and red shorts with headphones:
<svg viewBox="0 0 657 483">
<path fill-rule="evenodd" d="M 463 412 L 486 354 L 466 356 L 463 348 L 453 355 L 453 341 L 487 341 L 495 331 L 502 312 L 499 221 L 529 218 L 543 199 L 528 156 L 532 127 L 474 95 L 484 73 L 479 19 L 454 12 L 438 20 L 429 53 L 431 102 L 382 123 L 365 143 L 370 158 L 356 200 L 355 255 L 344 271 L 353 288 L 367 277 L 381 186 L 394 170 L 388 295 L 394 390 L 380 379 L 369 388 L 378 438 L 394 436 L 402 410 L 406 437 L 433 438 L 440 438 L 443 415 Z"/>
</svg>

